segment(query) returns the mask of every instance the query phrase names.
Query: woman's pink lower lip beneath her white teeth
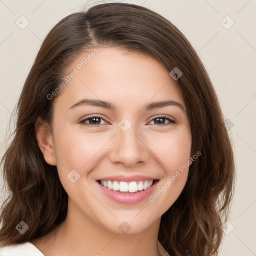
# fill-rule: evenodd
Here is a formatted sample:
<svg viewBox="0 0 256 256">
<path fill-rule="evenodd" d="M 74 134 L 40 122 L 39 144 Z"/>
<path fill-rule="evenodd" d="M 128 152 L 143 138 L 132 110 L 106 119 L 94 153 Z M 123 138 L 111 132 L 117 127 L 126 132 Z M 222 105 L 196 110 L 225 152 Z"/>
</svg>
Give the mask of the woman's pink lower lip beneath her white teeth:
<svg viewBox="0 0 256 256">
<path fill-rule="evenodd" d="M 149 188 L 134 192 L 133 194 L 118 192 L 100 185 L 97 181 L 96 183 L 98 184 L 100 190 L 112 200 L 119 203 L 132 204 L 132 203 L 140 202 L 146 197 L 148 197 L 150 193 L 152 193 L 152 191 L 154 190 L 155 185 L 158 181 L 159 180 L 155 181 Z"/>
</svg>

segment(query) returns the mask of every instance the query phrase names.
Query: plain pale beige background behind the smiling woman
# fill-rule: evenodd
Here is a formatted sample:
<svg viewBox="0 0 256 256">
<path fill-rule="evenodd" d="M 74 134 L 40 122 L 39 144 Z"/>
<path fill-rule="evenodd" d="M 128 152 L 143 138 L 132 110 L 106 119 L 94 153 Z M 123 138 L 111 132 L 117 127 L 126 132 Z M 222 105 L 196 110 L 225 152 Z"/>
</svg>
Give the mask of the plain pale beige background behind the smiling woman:
<svg viewBox="0 0 256 256">
<path fill-rule="evenodd" d="M 4 152 L 2 142 L 11 112 L 41 41 L 58 20 L 81 10 L 85 2 L 0 0 L 0 156 Z M 124 2 L 148 7 L 173 22 L 206 66 L 225 118 L 230 120 L 237 170 L 231 215 L 225 228 L 227 234 L 219 255 L 256 255 L 255 0 Z M 24 29 L 15 24 L 21 15 L 29 21 Z M 232 20 L 234 24 L 229 27 Z"/>
</svg>

